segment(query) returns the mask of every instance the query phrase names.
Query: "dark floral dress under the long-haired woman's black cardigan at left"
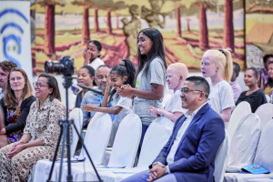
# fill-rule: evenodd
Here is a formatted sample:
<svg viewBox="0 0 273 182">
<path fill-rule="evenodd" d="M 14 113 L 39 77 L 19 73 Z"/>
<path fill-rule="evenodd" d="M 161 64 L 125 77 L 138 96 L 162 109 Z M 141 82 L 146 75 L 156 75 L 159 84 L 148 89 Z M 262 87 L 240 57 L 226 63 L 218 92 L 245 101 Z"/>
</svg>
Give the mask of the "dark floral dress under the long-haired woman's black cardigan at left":
<svg viewBox="0 0 273 182">
<path fill-rule="evenodd" d="M 20 106 L 18 106 L 17 108 L 7 108 L 6 109 L 6 121 L 9 125 L 14 125 L 15 122 L 17 121 L 18 117 L 21 114 L 20 111 Z M 15 131 L 11 134 L 6 135 L 7 137 L 7 143 L 11 144 L 11 143 L 15 143 L 17 141 L 19 141 L 21 139 L 21 137 L 23 136 L 23 130 L 19 130 L 19 131 Z"/>
</svg>

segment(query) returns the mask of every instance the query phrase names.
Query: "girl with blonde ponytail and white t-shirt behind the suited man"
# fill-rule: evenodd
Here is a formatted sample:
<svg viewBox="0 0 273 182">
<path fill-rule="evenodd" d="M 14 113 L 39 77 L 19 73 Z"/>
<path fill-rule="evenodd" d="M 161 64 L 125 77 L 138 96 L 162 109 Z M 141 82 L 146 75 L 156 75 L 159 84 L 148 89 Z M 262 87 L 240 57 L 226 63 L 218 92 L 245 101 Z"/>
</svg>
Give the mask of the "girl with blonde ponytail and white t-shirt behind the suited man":
<svg viewBox="0 0 273 182">
<path fill-rule="evenodd" d="M 232 58 L 227 49 L 207 50 L 202 57 L 202 75 L 211 79 L 208 104 L 225 122 L 229 121 L 235 106 L 232 87 L 229 85 L 232 71 Z"/>
</svg>

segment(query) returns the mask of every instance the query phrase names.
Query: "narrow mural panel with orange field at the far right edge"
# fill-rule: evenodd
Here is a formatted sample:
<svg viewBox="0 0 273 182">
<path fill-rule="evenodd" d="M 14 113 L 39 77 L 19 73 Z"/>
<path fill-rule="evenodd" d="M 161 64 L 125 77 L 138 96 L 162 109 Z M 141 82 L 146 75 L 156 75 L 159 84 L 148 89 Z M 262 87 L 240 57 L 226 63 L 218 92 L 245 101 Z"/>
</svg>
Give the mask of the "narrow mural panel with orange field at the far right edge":
<svg viewBox="0 0 273 182">
<path fill-rule="evenodd" d="M 273 54 L 273 1 L 246 1 L 247 66 L 263 68 L 263 56 Z"/>
</svg>

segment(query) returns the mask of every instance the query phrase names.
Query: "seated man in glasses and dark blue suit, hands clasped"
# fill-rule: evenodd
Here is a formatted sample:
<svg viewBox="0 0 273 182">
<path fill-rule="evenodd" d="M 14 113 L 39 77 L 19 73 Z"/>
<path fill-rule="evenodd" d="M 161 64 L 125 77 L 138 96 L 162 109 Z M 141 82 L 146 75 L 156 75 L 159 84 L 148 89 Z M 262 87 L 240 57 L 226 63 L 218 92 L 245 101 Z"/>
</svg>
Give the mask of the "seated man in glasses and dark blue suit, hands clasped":
<svg viewBox="0 0 273 182">
<path fill-rule="evenodd" d="M 214 158 L 225 138 L 222 118 L 207 104 L 209 85 L 200 76 L 190 76 L 181 89 L 182 106 L 173 134 L 149 167 L 128 181 L 213 182 Z"/>
</svg>

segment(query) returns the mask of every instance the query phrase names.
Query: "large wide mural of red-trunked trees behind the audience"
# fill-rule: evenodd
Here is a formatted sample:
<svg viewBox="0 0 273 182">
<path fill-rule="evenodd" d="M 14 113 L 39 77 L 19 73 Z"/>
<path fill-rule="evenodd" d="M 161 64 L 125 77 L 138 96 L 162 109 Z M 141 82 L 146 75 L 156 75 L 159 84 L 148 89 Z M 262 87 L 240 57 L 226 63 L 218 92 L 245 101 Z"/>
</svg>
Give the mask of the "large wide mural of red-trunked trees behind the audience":
<svg viewBox="0 0 273 182">
<path fill-rule="evenodd" d="M 36 0 L 35 71 L 60 56 L 73 56 L 78 69 L 91 39 L 102 43 L 107 65 L 137 64 L 137 34 L 147 27 L 161 31 L 168 65 L 199 70 L 207 48 L 229 47 L 245 66 L 243 0 Z"/>
</svg>

